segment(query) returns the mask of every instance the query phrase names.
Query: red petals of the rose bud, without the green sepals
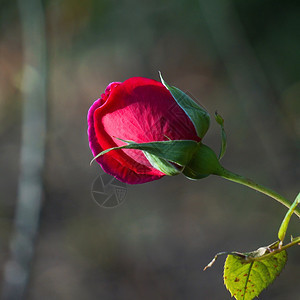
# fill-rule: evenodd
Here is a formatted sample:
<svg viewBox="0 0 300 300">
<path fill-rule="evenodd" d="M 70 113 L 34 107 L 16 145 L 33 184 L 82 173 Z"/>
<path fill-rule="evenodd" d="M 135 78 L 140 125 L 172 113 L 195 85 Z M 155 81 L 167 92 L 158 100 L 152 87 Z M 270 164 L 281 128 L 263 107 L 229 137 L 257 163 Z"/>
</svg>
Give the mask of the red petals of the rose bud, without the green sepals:
<svg viewBox="0 0 300 300">
<path fill-rule="evenodd" d="M 89 109 L 88 136 L 94 156 L 126 145 L 122 140 L 201 140 L 191 118 L 170 91 L 158 81 L 141 77 L 108 85 Z M 144 183 L 165 175 L 140 150 L 117 149 L 96 161 L 105 172 L 126 183 Z"/>
</svg>

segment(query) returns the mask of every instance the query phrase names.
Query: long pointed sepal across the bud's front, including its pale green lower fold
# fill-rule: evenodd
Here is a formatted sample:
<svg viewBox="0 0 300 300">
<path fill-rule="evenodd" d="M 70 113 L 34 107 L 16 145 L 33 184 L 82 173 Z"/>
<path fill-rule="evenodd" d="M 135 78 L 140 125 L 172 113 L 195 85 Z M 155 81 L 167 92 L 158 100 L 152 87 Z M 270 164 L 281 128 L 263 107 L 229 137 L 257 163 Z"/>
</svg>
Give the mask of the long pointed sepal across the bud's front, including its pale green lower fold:
<svg viewBox="0 0 300 300">
<path fill-rule="evenodd" d="M 169 140 L 160 142 L 150 142 L 150 143 L 135 143 L 133 141 L 126 141 L 119 139 L 127 145 L 120 147 L 113 147 L 102 151 L 94 157 L 92 162 L 101 155 L 104 155 L 112 150 L 118 149 L 136 149 L 141 150 L 145 154 L 147 153 L 147 158 L 149 162 L 153 164 L 155 168 L 162 171 L 166 175 L 176 175 L 179 174 L 181 167 L 184 167 L 192 159 L 198 143 L 192 140 Z M 170 162 L 178 165 L 172 165 Z"/>
</svg>

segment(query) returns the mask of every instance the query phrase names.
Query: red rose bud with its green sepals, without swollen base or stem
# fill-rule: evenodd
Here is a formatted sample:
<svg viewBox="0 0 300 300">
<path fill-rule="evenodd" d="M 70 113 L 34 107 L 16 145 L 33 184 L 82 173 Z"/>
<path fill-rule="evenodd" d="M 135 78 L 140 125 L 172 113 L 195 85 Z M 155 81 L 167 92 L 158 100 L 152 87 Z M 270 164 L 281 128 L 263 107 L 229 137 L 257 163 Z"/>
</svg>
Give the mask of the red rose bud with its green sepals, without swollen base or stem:
<svg viewBox="0 0 300 300">
<path fill-rule="evenodd" d="M 145 183 L 182 172 L 208 129 L 207 112 L 164 85 L 141 77 L 114 82 L 89 109 L 90 148 L 120 181 Z"/>
</svg>

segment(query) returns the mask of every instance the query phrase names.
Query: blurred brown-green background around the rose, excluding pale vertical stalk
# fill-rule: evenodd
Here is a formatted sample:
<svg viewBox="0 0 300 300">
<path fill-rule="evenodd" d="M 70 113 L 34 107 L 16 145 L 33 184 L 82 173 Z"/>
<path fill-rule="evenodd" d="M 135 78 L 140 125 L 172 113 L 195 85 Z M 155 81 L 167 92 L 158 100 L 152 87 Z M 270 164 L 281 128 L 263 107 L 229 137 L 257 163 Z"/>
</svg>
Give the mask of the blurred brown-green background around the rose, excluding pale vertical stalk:
<svg viewBox="0 0 300 300">
<path fill-rule="evenodd" d="M 3 285 L 21 168 L 26 62 L 20 2 L 0 1 Z M 133 76 L 158 80 L 160 70 L 211 115 L 218 110 L 224 117 L 225 167 L 292 200 L 299 192 L 299 2 L 39 3 L 47 44 L 47 135 L 43 201 L 25 298 L 230 299 L 222 280 L 224 259 L 206 272 L 203 267 L 219 251 L 254 250 L 276 240 L 286 210 L 214 176 L 127 186 L 121 206 L 101 208 L 91 196 L 101 169 L 89 165 L 86 114 L 108 83 Z M 34 19 L 34 9 L 32 14 Z M 214 121 L 205 142 L 218 151 Z M 299 234 L 296 217 L 289 234 Z M 299 269 L 299 249 L 293 247 L 281 276 L 261 299 L 298 299 Z"/>
</svg>

